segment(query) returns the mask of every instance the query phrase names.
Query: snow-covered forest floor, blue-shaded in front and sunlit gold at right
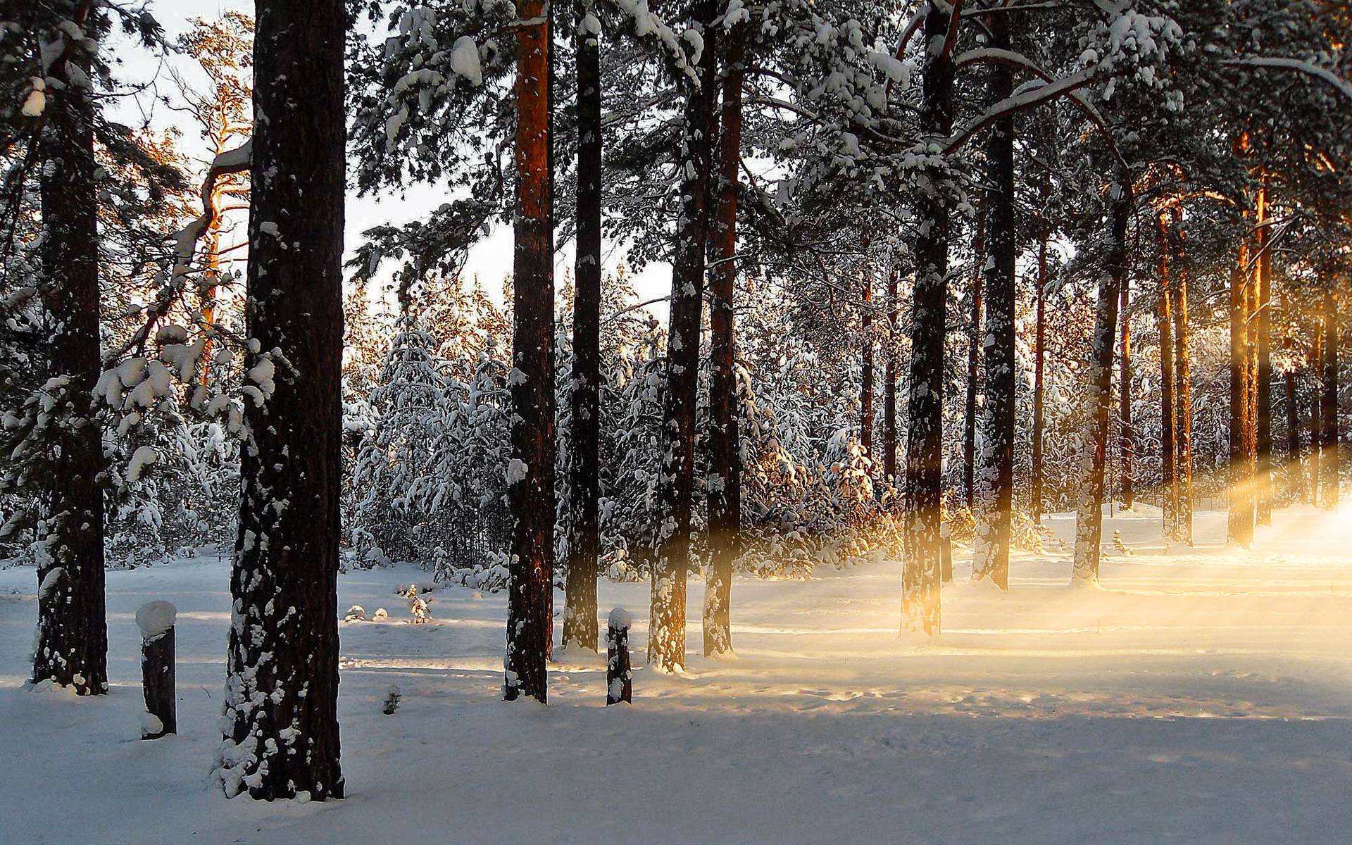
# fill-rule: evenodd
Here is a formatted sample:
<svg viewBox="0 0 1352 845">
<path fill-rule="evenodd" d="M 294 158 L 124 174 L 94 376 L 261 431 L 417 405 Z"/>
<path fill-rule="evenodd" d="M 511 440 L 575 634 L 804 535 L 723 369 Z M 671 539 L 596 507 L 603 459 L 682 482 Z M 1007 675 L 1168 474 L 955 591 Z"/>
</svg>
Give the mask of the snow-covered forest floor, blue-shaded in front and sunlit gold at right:
<svg viewBox="0 0 1352 845">
<path fill-rule="evenodd" d="M 604 660 L 565 656 L 550 706 L 506 704 L 506 594 L 431 594 L 412 568 L 339 579 L 347 798 L 226 802 L 207 786 L 228 560 L 108 573 L 111 695 L 22 687 L 31 569 L 0 571 L 0 842 L 1341 842 L 1352 829 L 1352 519 L 1279 511 L 1252 553 L 1224 512 L 1164 553 L 1159 511 L 1107 519 L 1132 556 L 1071 589 L 1018 553 L 1010 592 L 945 587 L 940 641 L 898 639 L 898 562 L 738 579 L 735 660 L 641 668 L 603 707 Z M 1069 545 L 1072 519 L 1051 525 Z M 1055 545 L 1055 544 L 1053 544 Z M 602 583 L 602 615 L 646 584 Z M 135 608 L 178 606 L 178 730 L 137 740 Z M 562 598 L 556 596 L 556 607 Z M 556 621 L 556 637 L 558 623 Z M 389 684 L 403 702 L 381 714 Z"/>
</svg>

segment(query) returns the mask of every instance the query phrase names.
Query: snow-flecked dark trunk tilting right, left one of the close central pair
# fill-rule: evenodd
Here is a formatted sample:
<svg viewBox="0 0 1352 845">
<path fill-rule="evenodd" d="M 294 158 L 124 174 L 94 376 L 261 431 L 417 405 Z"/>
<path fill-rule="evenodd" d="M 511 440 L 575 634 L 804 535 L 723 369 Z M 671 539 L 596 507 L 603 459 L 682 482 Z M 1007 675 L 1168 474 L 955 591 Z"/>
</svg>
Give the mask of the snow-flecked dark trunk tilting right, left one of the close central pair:
<svg viewBox="0 0 1352 845">
<path fill-rule="evenodd" d="M 667 391 L 662 403 L 665 450 L 658 479 L 661 535 L 653 566 L 648 662 L 667 672 L 685 665 L 685 575 L 695 468 L 695 406 L 699 396 L 699 319 L 704 296 L 704 253 L 710 223 L 710 164 L 715 131 L 714 0 L 698 0 L 692 26 L 704 37 L 699 88 L 685 93 L 681 130 L 681 214 L 672 261 Z"/>
</svg>

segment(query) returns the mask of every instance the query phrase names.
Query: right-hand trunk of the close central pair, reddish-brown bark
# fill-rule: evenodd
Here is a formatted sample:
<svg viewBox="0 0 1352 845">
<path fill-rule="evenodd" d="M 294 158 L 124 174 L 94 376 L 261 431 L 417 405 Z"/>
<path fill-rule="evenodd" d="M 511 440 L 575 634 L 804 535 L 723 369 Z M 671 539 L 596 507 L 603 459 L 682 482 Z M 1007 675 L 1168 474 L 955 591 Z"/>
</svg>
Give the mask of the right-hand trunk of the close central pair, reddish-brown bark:
<svg viewBox="0 0 1352 845">
<path fill-rule="evenodd" d="M 746 24 L 729 34 L 725 51 L 723 101 L 718 146 L 718 223 L 715 269 L 710 276 L 708 452 L 717 476 L 708 493 L 708 577 L 704 581 L 704 656 L 733 650 L 733 560 L 738 552 L 742 511 L 742 466 L 737 426 L 735 311 L 737 168 L 742 155 L 742 59 Z"/>
</svg>

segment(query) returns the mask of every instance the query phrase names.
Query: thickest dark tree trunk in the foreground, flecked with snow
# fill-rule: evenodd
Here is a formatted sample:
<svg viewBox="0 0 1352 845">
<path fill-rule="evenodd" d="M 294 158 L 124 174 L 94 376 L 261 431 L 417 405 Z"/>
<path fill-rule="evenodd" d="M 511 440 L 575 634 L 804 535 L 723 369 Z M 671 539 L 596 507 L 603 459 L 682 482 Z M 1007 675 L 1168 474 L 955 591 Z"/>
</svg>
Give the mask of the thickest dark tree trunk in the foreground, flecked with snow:
<svg viewBox="0 0 1352 845">
<path fill-rule="evenodd" d="M 272 395 L 245 403 L 226 737 L 215 777 L 226 795 L 247 788 L 264 800 L 323 800 L 343 794 L 337 707 L 346 9 L 341 0 L 270 0 L 257 4 L 257 15 L 247 322 L 261 352 L 245 368 Z"/>
</svg>

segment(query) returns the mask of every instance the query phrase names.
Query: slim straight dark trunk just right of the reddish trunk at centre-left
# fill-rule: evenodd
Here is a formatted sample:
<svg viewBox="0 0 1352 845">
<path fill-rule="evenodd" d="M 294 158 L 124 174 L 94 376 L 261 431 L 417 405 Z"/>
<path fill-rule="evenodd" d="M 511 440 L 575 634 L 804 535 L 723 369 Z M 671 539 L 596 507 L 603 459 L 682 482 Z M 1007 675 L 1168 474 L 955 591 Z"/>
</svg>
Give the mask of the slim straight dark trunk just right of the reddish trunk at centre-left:
<svg viewBox="0 0 1352 845">
<path fill-rule="evenodd" d="M 573 268 L 572 537 L 564 596 L 564 648 L 596 650 L 598 503 L 600 502 L 600 32 L 591 0 L 577 8 L 577 258 Z M 592 31 L 598 30 L 598 31 Z"/>
</svg>

